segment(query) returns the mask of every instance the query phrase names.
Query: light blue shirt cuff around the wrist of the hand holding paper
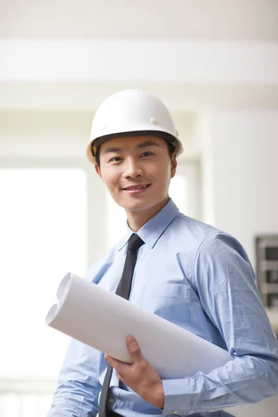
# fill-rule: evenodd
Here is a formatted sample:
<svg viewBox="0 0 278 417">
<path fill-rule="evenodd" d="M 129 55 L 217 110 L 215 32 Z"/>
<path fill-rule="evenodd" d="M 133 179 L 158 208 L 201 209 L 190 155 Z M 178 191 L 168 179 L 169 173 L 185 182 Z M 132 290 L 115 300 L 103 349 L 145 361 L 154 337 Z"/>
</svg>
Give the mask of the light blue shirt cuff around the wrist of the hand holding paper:
<svg viewBox="0 0 278 417">
<path fill-rule="evenodd" d="M 162 415 L 186 416 L 190 405 L 190 391 L 186 379 L 163 379 L 162 385 L 165 395 Z"/>
</svg>

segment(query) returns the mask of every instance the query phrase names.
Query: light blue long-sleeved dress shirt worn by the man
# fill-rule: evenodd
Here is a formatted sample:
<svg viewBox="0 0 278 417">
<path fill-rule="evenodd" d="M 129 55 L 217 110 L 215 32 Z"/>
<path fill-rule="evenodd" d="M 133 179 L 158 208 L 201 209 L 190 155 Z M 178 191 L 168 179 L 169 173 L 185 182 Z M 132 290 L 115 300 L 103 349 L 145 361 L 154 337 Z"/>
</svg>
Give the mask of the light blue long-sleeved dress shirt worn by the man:
<svg viewBox="0 0 278 417">
<path fill-rule="evenodd" d="M 88 279 L 115 291 L 132 233 L 92 265 Z M 277 395 L 278 343 L 242 245 L 179 213 L 171 199 L 138 235 L 145 245 L 130 301 L 228 350 L 234 360 L 208 374 L 164 379 L 163 411 L 119 384 L 114 371 L 109 407 L 124 417 L 224 417 L 230 414 L 223 408 Z M 48 417 L 96 416 L 106 366 L 104 354 L 72 340 Z"/>
</svg>

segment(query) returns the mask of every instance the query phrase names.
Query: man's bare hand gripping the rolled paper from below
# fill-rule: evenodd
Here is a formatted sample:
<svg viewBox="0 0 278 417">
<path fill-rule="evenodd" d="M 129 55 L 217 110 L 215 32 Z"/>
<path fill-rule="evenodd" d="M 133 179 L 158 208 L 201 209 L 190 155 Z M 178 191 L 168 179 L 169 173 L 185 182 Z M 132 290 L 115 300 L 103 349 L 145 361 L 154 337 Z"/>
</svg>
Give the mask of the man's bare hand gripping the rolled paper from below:
<svg viewBox="0 0 278 417">
<path fill-rule="evenodd" d="M 133 389 L 143 400 L 163 408 L 164 391 L 161 378 L 156 370 L 150 366 L 149 362 L 142 356 L 140 346 L 136 338 L 129 336 L 126 338 L 126 345 L 129 348 L 133 364 L 117 361 L 105 355 L 104 359 L 115 368 L 120 381 L 124 382 L 129 388 Z"/>
</svg>

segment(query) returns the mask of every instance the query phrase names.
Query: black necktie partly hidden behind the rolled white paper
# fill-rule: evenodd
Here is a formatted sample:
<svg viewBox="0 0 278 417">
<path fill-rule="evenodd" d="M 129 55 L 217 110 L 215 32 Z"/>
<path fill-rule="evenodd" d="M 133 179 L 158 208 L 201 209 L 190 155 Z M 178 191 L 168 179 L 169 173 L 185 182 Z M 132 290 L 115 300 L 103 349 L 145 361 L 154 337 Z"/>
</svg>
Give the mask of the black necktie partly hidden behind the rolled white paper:
<svg viewBox="0 0 278 417">
<path fill-rule="evenodd" d="M 115 294 L 128 300 L 131 291 L 131 281 L 133 277 L 133 271 L 136 265 L 136 259 L 138 249 L 144 245 L 145 242 L 136 234 L 131 235 L 129 238 L 129 245 L 126 251 L 126 260 L 124 262 L 124 270 L 122 272 L 122 278 L 117 286 Z M 108 391 L 113 373 L 113 367 L 108 364 L 106 375 L 104 378 L 104 384 L 102 386 L 101 395 L 99 399 L 99 417 L 107 417 L 106 403 L 108 398 Z"/>
</svg>

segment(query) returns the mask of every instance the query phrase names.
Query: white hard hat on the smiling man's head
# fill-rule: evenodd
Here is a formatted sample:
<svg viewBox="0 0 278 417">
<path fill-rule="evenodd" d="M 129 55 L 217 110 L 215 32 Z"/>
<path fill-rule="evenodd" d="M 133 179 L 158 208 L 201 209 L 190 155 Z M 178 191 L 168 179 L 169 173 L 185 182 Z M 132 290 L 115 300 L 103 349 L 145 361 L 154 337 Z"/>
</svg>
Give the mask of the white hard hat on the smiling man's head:
<svg viewBox="0 0 278 417">
<path fill-rule="evenodd" d="M 142 90 L 116 92 L 95 113 L 87 157 L 95 163 L 97 147 L 106 140 L 143 135 L 169 140 L 177 156 L 183 152 L 170 112 L 160 99 Z"/>
</svg>

